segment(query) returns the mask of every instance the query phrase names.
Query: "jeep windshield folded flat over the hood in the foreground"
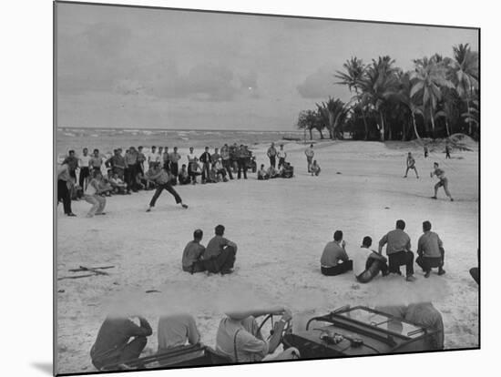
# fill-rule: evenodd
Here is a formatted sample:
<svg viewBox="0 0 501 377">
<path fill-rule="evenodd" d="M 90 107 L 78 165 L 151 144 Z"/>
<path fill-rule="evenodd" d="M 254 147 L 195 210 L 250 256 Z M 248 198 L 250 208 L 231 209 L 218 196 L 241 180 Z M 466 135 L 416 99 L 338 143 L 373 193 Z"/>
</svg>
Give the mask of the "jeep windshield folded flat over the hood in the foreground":
<svg viewBox="0 0 501 377">
<path fill-rule="evenodd" d="M 350 318 L 355 321 L 360 321 L 368 325 L 392 331 L 410 338 L 416 338 L 423 334 L 424 329 L 419 326 L 414 326 L 411 323 L 398 321 L 384 314 L 367 311 L 363 308 L 353 309 L 352 311 L 344 311 L 338 313 L 343 317 Z"/>
</svg>

